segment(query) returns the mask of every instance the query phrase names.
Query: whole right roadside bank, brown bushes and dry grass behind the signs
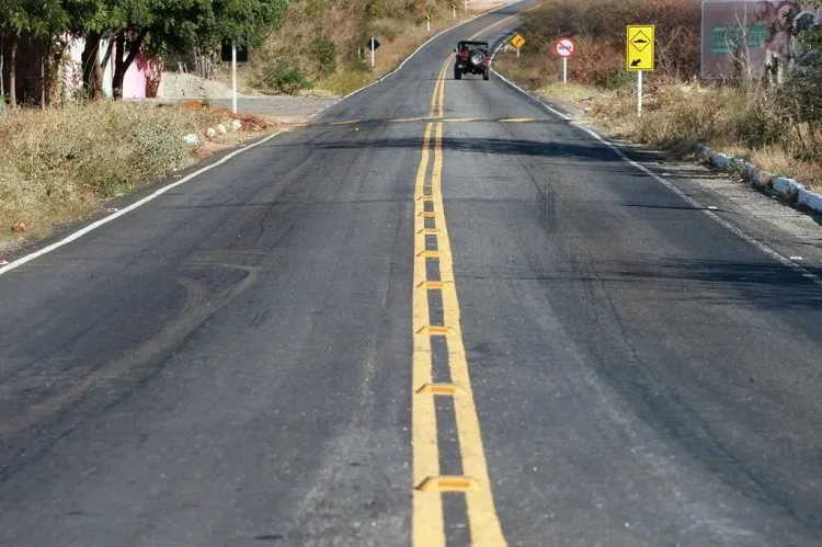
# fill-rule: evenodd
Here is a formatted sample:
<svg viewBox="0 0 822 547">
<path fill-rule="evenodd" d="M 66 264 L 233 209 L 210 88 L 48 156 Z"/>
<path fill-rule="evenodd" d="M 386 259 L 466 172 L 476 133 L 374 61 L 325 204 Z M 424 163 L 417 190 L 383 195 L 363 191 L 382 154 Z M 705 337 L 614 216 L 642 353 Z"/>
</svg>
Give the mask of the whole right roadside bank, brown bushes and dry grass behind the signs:
<svg viewBox="0 0 822 547">
<path fill-rule="evenodd" d="M 680 151 L 707 143 L 822 187 L 822 64 L 781 86 L 700 81 L 699 22 L 699 0 L 553 0 L 528 14 L 521 57 L 501 55 L 496 69 L 621 137 Z M 657 25 L 657 70 L 646 73 L 641 116 L 636 75 L 625 70 L 627 24 Z M 553 53 L 561 36 L 576 44 L 568 86 Z M 820 47 L 822 31 L 798 39 Z"/>
</svg>

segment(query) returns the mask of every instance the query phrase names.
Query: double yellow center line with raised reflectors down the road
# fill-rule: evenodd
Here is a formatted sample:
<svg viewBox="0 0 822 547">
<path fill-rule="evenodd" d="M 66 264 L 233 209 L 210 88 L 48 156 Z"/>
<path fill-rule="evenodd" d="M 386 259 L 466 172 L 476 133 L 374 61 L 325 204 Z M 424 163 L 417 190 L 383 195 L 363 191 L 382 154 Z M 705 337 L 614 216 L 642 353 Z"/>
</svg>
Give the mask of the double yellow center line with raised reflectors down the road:
<svg viewBox="0 0 822 547">
<path fill-rule="evenodd" d="M 505 18 L 479 34 L 518 16 Z M 443 123 L 445 104 L 445 73 L 454 55 L 439 69 L 431 96 L 429 122 L 422 145 L 422 158 L 414 185 L 414 275 L 412 295 L 413 357 L 412 357 L 412 442 L 413 442 L 413 545 L 444 547 L 445 518 L 443 493 L 465 495 L 471 543 L 482 546 L 506 545 L 494 506 L 491 481 L 486 463 L 479 418 L 473 401 L 463 332 L 459 322 L 450 239 L 443 206 Z M 433 147 L 432 147 L 433 144 Z M 433 148 L 433 166 L 429 166 Z M 431 278 L 429 261 L 438 263 L 438 278 Z M 442 323 L 432 321 L 429 296 L 438 292 L 443 305 Z M 449 378 L 434 378 L 432 341 L 445 339 Z M 463 475 L 441 475 L 439 440 L 435 398 L 453 401 L 457 441 Z"/>
</svg>

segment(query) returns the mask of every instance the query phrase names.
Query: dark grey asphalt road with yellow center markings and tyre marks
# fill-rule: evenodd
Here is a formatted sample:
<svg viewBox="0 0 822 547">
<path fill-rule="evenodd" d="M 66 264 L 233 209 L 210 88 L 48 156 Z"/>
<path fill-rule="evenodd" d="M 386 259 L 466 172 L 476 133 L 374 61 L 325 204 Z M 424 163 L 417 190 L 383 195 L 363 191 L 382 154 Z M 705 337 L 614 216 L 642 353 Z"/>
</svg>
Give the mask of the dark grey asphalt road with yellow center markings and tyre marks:
<svg viewBox="0 0 822 547">
<path fill-rule="evenodd" d="M 526 7 L 0 276 L 0 545 L 822 545 L 820 285 L 441 102 Z"/>
</svg>

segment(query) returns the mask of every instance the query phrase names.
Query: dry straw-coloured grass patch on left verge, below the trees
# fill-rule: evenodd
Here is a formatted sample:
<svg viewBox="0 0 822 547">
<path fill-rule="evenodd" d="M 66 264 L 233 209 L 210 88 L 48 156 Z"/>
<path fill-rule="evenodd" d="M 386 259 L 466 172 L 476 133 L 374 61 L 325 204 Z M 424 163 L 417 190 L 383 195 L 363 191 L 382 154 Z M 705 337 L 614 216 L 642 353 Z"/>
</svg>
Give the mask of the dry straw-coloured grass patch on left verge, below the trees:
<svg viewBox="0 0 822 547">
<path fill-rule="evenodd" d="M 9 113 L 0 117 L 0 241 L 46 236 L 95 213 L 106 198 L 216 151 L 215 143 L 266 129 L 251 122 L 244 121 L 251 130 L 206 139 L 208 127 L 230 128 L 227 113 L 133 102 Z M 192 133 L 201 135 L 199 146 L 183 141 Z M 24 232 L 12 231 L 18 223 Z"/>
</svg>

